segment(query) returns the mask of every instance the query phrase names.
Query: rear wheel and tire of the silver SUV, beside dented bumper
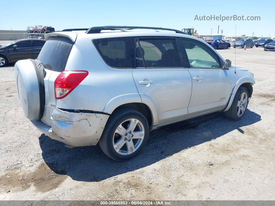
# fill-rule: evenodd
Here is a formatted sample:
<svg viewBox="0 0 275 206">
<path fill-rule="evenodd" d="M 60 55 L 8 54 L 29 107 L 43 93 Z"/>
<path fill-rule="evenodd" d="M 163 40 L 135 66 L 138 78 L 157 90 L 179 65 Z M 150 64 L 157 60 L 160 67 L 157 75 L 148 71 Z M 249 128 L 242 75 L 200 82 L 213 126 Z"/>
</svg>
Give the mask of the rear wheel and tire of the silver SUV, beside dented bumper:
<svg viewBox="0 0 275 206">
<path fill-rule="evenodd" d="M 146 118 L 134 109 L 117 109 L 109 117 L 99 145 L 113 160 L 125 161 L 136 156 L 149 135 Z"/>
</svg>

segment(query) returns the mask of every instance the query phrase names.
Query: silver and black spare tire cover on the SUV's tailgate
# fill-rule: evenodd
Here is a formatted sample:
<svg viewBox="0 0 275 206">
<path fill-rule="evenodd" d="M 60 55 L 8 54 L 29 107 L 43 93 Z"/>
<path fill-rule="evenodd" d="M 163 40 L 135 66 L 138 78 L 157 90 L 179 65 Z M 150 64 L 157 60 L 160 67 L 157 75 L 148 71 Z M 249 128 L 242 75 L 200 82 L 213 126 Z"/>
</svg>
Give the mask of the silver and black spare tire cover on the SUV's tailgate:
<svg viewBox="0 0 275 206">
<path fill-rule="evenodd" d="M 45 108 L 43 65 L 38 60 L 20 60 L 16 62 L 14 72 L 24 115 L 30 120 L 41 119 Z"/>
</svg>

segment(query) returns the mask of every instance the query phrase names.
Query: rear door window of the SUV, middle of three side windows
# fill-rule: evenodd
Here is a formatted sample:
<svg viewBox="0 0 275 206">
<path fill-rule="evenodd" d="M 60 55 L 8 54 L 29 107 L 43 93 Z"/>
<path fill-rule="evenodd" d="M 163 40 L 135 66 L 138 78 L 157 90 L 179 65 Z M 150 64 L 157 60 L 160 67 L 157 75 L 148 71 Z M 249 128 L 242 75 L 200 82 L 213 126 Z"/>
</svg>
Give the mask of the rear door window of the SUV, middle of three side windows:
<svg viewBox="0 0 275 206">
<path fill-rule="evenodd" d="M 140 38 L 138 41 L 136 59 L 139 61 L 140 56 L 143 57 L 145 67 L 183 67 L 176 39 Z"/>
</svg>

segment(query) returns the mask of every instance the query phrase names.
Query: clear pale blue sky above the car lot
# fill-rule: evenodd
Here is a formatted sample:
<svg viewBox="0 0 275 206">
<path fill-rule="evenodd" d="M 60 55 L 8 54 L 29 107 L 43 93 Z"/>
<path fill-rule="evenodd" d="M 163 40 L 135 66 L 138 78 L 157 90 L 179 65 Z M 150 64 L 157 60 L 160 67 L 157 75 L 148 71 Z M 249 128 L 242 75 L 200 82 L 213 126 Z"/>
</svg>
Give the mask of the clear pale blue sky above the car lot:
<svg viewBox="0 0 275 206">
<path fill-rule="evenodd" d="M 3 0 L 7 1 L 7 0 Z M 216 2 L 216 3 L 215 3 Z M 25 30 L 27 26 L 53 26 L 56 30 L 92 26 L 153 26 L 181 30 L 194 27 L 200 35 L 224 30 L 223 35 L 275 37 L 275 3 L 272 1 L 9 1 L 1 9 L 1 30 Z M 5 9 L 6 8 L 6 9 Z M 268 14 L 269 13 L 269 14 Z M 260 16 L 260 21 L 194 21 L 195 16 Z M 3 18 L 4 17 L 4 18 Z M 3 20 L 4 19 L 4 20 Z M 221 31 L 221 30 L 220 30 Z M 220 33 L 220 32 L 219 32 Z"/>
</svg>

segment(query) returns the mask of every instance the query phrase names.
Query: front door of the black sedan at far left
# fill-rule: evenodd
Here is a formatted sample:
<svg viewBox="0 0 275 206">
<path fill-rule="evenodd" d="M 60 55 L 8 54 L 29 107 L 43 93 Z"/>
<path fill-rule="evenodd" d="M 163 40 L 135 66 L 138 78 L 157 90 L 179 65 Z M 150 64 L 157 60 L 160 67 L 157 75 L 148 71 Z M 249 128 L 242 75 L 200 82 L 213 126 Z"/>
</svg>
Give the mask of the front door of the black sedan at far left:
<svg viewBox="0 0 275 206">
<path fill-rule="evenodd" d="M 11 62 L 17 62 L 21 59 L 32 59 L 32 47 L 31 47 L 31 40 L 17 42 L 14 45 L 17 45 L 18 48 L 13 49 L 13 46 L 9 47 L 9 57 Z"/>
</svg>

